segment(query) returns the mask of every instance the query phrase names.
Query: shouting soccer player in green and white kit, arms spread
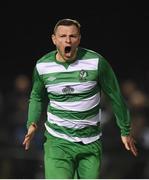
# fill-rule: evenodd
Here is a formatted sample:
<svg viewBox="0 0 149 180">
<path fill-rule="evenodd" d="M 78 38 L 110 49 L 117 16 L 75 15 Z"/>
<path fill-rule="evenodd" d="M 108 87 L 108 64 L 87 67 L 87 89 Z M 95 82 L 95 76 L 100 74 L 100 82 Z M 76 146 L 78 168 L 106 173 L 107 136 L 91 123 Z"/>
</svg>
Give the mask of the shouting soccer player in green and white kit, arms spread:
<svg viewBox="0 0 149 180">
<path fill-rule="evenodd" d="M 27 150 L 38 126 L 45 97 L 45 178 L 99 178 L 102 142 L 100 99 L 103 91 L 112 105 L 124 147 L 137 156 L 131 136 L 129 110 L 110 64 L 99 53 L 79 46 L 80 24 L 57 22 L 52 35 L 56 50 L 39 59 L 34 69 L 27 128 Z"/>
</svg>

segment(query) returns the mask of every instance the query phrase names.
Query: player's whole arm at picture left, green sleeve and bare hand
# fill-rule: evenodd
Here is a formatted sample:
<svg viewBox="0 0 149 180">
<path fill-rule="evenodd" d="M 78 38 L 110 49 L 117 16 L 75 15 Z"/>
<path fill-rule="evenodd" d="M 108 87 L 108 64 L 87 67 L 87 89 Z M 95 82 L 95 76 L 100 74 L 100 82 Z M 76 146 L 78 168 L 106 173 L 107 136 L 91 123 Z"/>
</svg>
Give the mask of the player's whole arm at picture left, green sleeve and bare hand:
<svg viewBox="0 0 149 180">
<path fill-rule="evenodd" d="M 31 140 L 37 130 L 37 123 L 40 119 L 45 104 L 45 94 L 46 92 L 45 92 L 44 84 L 35 68 L 33 74 L 33 87 L 29 99 L 29 108 L 28 108 L 28 120 L 27 120 L 28 132 L 25 135 L 23 141 L 25 150 L 29 149 Z"/>
</svg>

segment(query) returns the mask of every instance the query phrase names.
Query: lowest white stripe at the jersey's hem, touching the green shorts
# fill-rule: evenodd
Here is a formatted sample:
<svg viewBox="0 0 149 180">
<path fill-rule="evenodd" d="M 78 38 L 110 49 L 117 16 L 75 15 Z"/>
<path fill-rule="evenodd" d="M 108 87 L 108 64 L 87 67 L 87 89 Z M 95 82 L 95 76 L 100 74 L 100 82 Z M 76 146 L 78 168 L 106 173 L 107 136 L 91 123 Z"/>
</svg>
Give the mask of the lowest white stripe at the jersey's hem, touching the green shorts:
<svg viewBox="0 0 149 180">
<path fill-rule="evenodd" d="M 84 144 L 89 144 L 91 142 L 94 142 L 96 140 L 98 140 L 102 133 L 100 132 L 97 136 L 93 136 L 93 137 L 86 137 L 86 138 L 80 138 L 80 137 L 70 137 L 66 134 L 62 134 L 62 133 L 59 133 L 59 132 L 56 132 L 54 131 L 53 129 L 51 129 L 50 127 L 48 127 L 45 123 L 45 127 L 46 127 L 46 130 L 53 136 L 55 137 L 58 137 L 58 138 L 62 138 L 62 139 L 66 139 L 68 141 L 71 141 L 71 142 L 83 142 Z"/>
</svg>

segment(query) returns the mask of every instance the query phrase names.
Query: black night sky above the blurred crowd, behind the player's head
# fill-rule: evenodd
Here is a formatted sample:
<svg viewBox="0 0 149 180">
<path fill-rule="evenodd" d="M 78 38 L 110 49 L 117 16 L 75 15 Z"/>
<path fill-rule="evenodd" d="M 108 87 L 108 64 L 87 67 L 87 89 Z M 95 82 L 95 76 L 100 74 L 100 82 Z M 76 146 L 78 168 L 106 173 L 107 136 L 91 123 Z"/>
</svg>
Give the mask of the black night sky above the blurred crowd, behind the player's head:
<svg viewBox="0 0 149 180">
<path fill-rule="evenodd" d="M 34 3 L 33 3 L 34 2 Z M 102 54 L 118 78 L 149 79 L 149 8 L 145 1 L 5 1 L 0 5 L 1 89 L 16 75 L 31 77 L 36 61 L 53 50 L 50 36 L 62 18 L 77 19 L 81 46 Z M 9 85 L 8 85 L 9 84 Z M 5 87 L 5 88 L 4 88 Z"/>
</svg>

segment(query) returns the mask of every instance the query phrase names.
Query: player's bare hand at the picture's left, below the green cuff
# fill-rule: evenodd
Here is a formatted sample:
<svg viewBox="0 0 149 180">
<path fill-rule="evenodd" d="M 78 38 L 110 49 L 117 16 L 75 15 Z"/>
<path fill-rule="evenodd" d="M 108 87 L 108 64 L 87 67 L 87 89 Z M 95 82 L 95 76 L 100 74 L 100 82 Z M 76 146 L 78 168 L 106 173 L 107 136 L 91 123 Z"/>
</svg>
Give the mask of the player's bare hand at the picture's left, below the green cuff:
<svg viewBox="0 0 149 180">
<path fill-rule="evenodd" d="M 30 143 L 31 140 L 35 134 L 35 131 L 37 129 L 37 125 L 36 124 L 31 124 L 28 128 L 28 132 L 25 135 L 24 141 L 23 141 L 23 145 L 25 146 L 25 150 L 28 150 L 30 147 Z"/>
</svg>

